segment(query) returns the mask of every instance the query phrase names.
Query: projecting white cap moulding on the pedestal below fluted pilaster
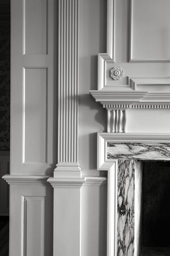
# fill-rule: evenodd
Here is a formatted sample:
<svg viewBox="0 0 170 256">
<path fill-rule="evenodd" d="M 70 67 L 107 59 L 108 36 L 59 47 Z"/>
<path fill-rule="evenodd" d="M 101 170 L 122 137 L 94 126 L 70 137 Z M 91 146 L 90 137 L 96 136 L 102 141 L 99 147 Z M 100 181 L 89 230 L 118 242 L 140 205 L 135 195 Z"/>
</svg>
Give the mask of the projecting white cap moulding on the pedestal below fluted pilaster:
<svg viewBox="0 0 170 256">
<path fill-rule="evenodd" d="M 53 188 L 80 188 L 85 182 L 84 177 L 50 177 L 47 180 Z"/>
</svg>

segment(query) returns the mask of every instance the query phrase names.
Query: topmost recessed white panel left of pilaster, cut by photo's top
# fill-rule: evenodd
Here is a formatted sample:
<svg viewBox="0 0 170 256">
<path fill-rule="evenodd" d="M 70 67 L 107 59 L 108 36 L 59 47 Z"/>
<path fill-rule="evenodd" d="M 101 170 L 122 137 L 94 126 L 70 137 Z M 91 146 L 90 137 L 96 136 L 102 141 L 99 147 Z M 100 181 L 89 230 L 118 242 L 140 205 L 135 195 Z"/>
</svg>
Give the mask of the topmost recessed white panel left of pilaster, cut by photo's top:
<svg viewBox="0 0 170 256">
<path fill-rule="evenodd" d="M 23 0 L 23 54 L 47 53 L 47 0 Z"/>
</svg>

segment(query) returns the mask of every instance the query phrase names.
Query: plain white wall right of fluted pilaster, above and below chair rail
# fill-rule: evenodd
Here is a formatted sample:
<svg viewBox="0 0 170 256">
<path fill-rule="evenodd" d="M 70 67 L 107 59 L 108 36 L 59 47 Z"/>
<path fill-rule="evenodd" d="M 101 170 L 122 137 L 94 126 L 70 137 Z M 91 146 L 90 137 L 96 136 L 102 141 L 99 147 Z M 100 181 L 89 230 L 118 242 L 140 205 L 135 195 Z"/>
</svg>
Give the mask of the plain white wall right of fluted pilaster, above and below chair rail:
<svg viewBox="0 0 170 256">
<path fill-rule="evenodd" d="M 97 54 L 107 43 L 107 1 L 80 0 L 79 164 L 85 176 L 97 171 L 97 132 L 106 131 L 107 110 L 89 94 L 97 89 Z M 82 187 L 82 256 L 107 253 L 107 187 Z"/>
</svg>

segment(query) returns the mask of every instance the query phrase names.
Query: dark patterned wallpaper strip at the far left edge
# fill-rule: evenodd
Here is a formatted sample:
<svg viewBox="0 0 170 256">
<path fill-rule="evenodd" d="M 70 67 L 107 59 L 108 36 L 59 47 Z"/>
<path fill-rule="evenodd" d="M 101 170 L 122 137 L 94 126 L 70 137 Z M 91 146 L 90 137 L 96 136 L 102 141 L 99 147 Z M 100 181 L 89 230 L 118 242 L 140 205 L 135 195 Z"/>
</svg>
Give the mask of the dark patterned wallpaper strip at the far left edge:
<svg viewBox="0 0 170 256">
<path fill-rule="evenodd" d="M 10 22 L 0 21 L 0 151 L 10 150 Z"/>
</svg>

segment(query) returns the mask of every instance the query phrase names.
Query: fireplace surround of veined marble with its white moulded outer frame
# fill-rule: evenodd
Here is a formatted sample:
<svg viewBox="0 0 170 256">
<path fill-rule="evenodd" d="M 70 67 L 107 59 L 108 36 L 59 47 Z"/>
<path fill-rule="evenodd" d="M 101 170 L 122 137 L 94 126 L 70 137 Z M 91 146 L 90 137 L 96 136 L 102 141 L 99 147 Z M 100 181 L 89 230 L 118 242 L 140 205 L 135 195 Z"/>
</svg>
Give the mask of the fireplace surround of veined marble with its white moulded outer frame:
<svg viewBox="0 0 170 256">
<path fill-rule="evenodd" d="M 140 255 L 142 160 L 170 160 L 170 133 L 98 133 L 97 168 L 108 172 L 107 256 Z"/>
</svg>

